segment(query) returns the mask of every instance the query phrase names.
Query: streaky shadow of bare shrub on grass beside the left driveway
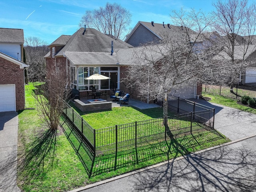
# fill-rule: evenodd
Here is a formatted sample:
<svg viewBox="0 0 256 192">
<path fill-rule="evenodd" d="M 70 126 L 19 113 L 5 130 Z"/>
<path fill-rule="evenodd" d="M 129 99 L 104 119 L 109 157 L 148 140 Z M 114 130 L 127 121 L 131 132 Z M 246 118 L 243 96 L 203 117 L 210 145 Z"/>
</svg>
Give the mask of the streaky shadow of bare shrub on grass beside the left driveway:
<svg viewBox="0 0 256 192">
<path fill-rule="evenodd" d="M 36 135 L 28 150 L 18 154 L 18 174 L 25 174 L 26 182 L 30 182 L 39 172 L 44 172 L 45 159 L 50 159 L 52 164 L 54 161 L 57 130 L 40 130 Z"/>
</svg>

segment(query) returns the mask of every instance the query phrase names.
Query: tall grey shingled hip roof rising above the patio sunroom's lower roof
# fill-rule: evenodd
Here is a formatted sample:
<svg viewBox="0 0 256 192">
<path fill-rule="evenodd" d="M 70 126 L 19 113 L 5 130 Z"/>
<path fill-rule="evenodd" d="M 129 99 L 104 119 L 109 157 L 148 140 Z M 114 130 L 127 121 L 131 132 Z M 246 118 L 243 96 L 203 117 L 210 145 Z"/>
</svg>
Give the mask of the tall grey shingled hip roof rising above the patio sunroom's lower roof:
<svg viewBox="0 0 256 192">
<path fill-rule="evenodd" d="M 111 53 L 111 41 L 114 41 L 114 52 L 121 48 L 127 48 L 126 45 L 113 40 L 98 30 L 86 28 L 84 35 L 83 32 L 84 28 L 75 32 L 56 56 L 60 56 L 64 52 Z"/>
</svg>

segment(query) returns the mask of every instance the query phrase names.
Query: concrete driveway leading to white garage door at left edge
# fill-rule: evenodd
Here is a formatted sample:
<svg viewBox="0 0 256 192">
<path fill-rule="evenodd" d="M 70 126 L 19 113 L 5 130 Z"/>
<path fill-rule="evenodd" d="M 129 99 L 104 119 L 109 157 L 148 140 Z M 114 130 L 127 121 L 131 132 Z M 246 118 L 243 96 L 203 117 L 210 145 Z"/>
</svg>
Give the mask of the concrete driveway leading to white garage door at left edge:
<svg viewBox="0 0 256 192">
<path fill-rule="evenodd" d="M 17 187 L 18 113 L 0 112 L 0 192 Z"/>
</svg>

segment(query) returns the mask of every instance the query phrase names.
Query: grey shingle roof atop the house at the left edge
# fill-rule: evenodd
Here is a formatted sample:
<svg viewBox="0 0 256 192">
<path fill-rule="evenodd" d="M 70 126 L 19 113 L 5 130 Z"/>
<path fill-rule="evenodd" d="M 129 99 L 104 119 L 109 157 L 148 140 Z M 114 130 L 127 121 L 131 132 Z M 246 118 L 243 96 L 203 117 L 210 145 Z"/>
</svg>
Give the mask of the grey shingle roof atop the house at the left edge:
<svg viewBox="0 0 256 192">
<path fill-rule="evenodd" d="M 0 28 L 0 42 L 24 44 L 23 29 Z"/>
</svg>

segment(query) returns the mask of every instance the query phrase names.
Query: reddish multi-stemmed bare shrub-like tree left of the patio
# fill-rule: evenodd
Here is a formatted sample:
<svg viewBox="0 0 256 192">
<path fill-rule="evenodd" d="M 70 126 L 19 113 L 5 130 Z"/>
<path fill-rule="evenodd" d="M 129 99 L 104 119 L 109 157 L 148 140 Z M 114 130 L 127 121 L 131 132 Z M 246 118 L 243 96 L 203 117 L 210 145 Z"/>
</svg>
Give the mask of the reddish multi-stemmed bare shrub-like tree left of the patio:
<svg viewBox="0 0 256 192">
<path fill-rule="evenodd" d="M 53 62 L 54 63 L 54 62 Z M 41 120 L 52 131 L 56 131 L 66 100 L 70 96 L 70 82 L 66 72 L 59 70 L 56 63 L 47 69 L 47 79 L 34 92 L 36 104 L 41 110 Z"/>
</svg>

